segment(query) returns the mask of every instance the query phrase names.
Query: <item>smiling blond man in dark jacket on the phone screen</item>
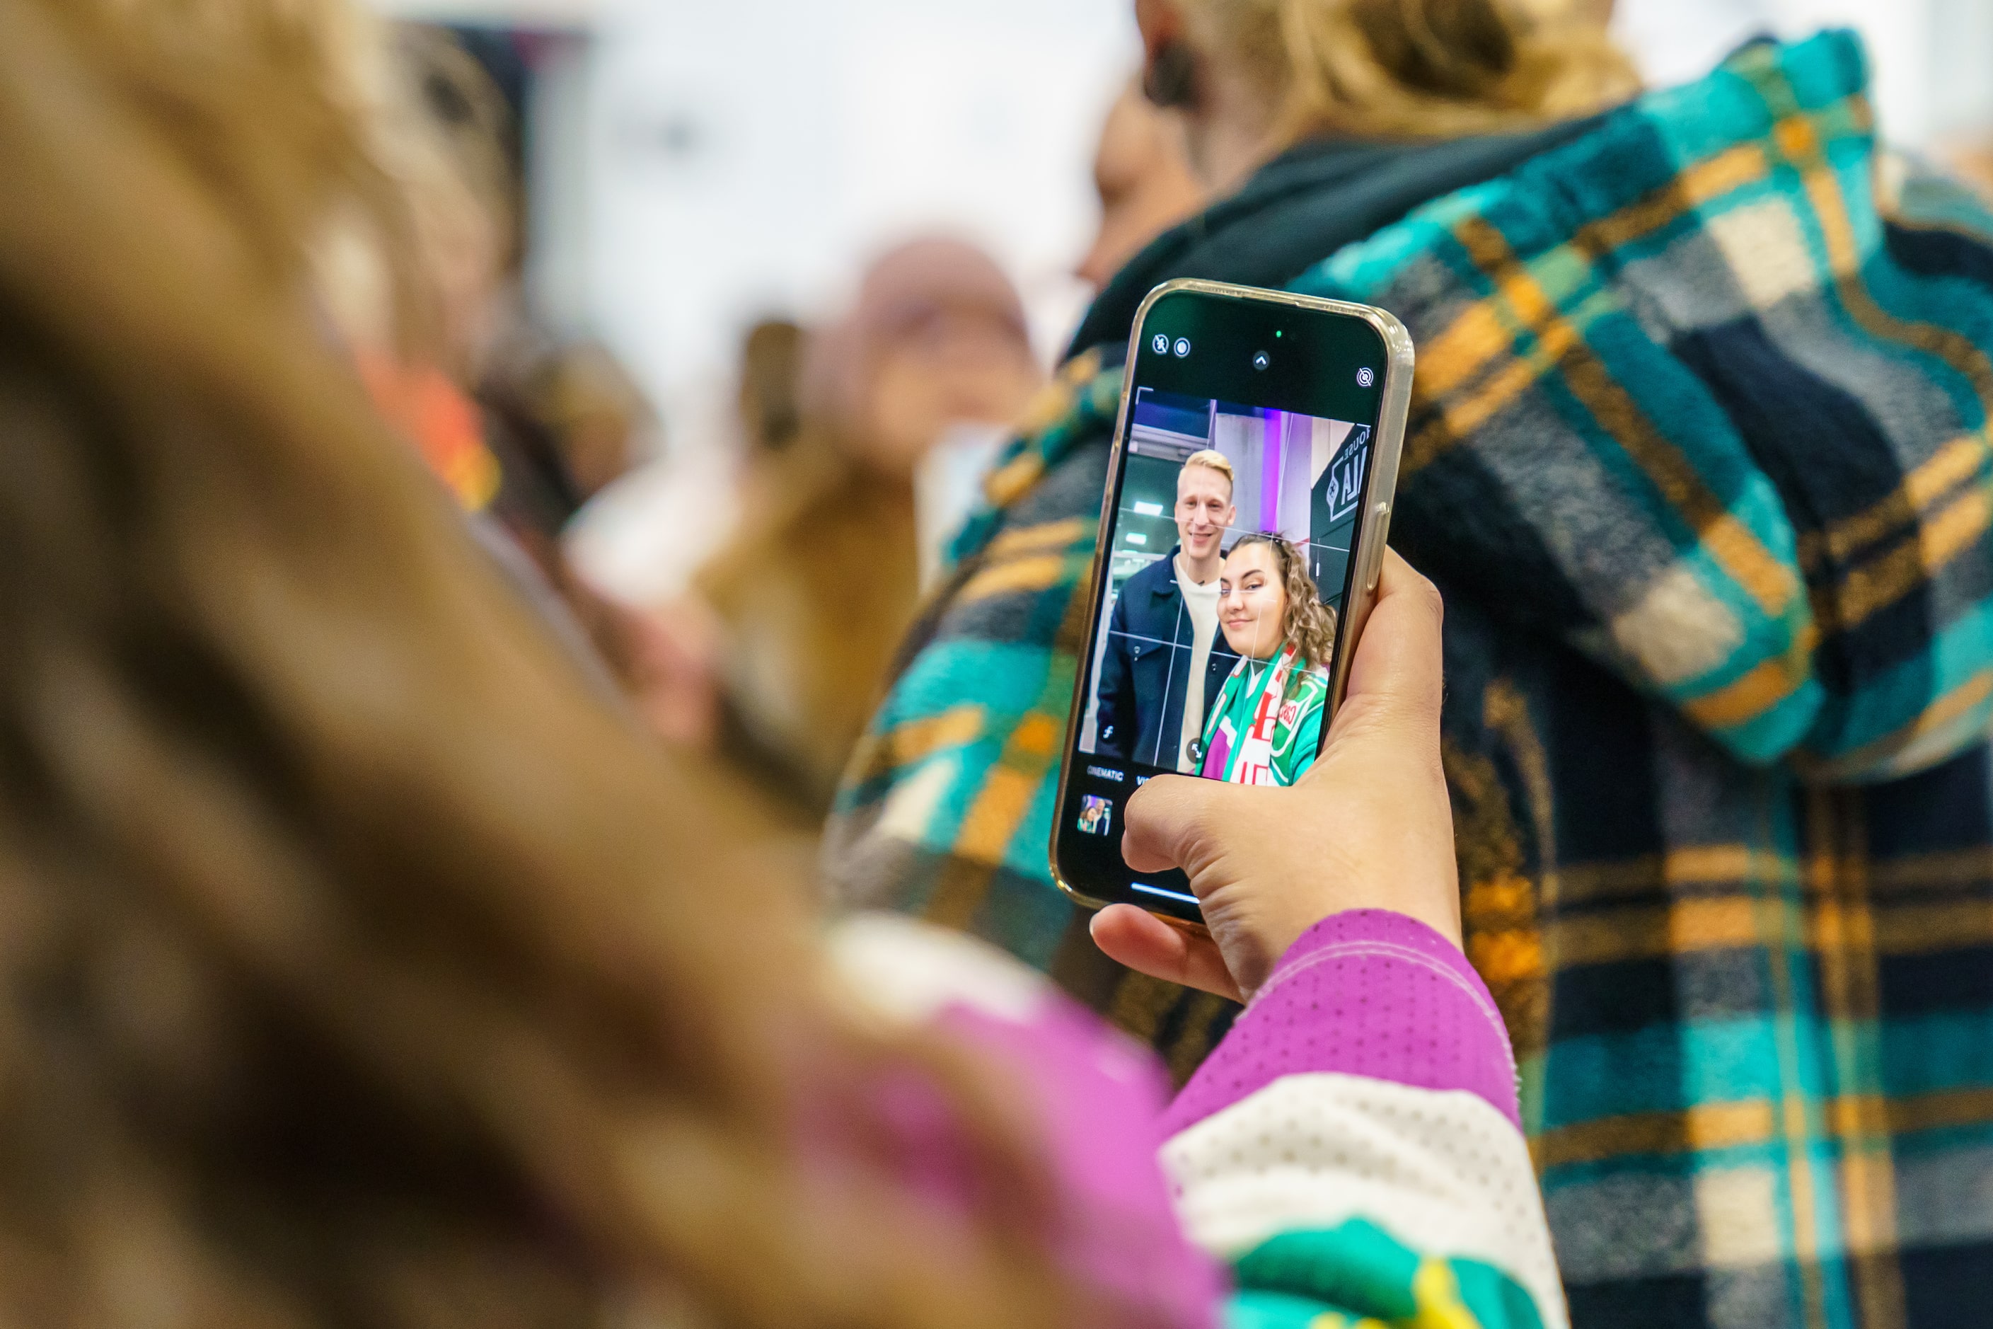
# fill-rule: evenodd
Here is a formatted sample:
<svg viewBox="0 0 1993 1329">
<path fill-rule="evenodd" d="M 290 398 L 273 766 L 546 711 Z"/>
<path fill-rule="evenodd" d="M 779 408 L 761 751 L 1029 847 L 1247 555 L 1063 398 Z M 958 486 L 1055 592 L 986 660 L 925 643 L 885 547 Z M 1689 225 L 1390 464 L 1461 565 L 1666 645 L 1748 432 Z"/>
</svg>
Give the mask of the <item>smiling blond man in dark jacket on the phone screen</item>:
<svg viewBox="0 0 1993 1329">
<path fill-rule="evenodd" d="M 1176 548 L 1122 584 L 1100 660 L 1094 751 L 1192 773 L 1204 705 L 1238 656 L 1218 634 L 1218 570 L 1232 506 L 1232 462 L 1194 452 L 1176 476 Z"/>
</svg>

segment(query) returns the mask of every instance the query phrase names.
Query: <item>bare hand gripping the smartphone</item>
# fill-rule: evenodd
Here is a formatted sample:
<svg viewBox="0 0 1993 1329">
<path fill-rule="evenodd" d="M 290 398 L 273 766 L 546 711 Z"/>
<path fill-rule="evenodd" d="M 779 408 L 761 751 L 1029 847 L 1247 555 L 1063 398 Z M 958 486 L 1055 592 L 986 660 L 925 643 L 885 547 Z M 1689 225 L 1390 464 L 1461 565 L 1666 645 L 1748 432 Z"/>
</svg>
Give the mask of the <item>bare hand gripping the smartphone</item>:
<svg viewBox="0 0 1993 1329">
<path fill-rule="evenodd" d="M 1387 552 L 1347 697 L 1307 775 L 1291 789 L 1162 775 L 1128 801 L 1128 867 L 1188 873 L 1210 936 L 1112 905 L 1094 915 L 1096 944 L 1128 968 L 1234 1000 L 1345 909 L 1393 909 L 1459 944 L 1439 626 L 1439 592 Z"/>
</svg>

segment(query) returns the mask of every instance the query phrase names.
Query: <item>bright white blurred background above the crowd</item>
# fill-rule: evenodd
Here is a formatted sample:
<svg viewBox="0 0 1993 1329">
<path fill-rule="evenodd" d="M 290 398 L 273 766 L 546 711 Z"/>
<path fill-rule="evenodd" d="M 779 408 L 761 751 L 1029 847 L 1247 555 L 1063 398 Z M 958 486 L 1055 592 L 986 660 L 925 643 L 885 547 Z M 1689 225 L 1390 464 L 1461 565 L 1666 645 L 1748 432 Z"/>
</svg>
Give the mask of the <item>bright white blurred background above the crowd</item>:
<svg viewBox="0 0 1993 1329">
<path fill-rule="evenodd" d="M 833 309 L 885 245 L 949 229 L 1026 295 L 1050 357 L 1086 291 L 1100 116 L 1130 0 L 383 0 L 542 30 L 528 114 L 532 297 L 602 335 L 676 446 L 717 436 L 741 329 Z M 1993 124 L 1993 0 L 1620 0 L 1650 82 L 1754 32 L 1851 24 L 1885 132 Z"/>
</svg>

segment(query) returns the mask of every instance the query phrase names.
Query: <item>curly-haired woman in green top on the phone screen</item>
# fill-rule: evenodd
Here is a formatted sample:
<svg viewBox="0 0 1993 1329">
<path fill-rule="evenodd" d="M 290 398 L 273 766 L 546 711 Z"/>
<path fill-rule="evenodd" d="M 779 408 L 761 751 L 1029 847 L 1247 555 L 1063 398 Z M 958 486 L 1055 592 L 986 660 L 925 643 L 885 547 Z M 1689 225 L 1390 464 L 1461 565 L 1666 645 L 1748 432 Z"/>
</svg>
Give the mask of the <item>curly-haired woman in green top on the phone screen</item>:
<svg viewBox="0 0 1993 1329">
<path fill-rule="evenodd" d="M 1315 763 L 1329 699 L 1335 610 L 1281 536 L 1242 536 L 1218 574 L 1218 626 L 1240 662 L 1204 721 L 1198 773 L 1291 785 Z"/>
</svg>

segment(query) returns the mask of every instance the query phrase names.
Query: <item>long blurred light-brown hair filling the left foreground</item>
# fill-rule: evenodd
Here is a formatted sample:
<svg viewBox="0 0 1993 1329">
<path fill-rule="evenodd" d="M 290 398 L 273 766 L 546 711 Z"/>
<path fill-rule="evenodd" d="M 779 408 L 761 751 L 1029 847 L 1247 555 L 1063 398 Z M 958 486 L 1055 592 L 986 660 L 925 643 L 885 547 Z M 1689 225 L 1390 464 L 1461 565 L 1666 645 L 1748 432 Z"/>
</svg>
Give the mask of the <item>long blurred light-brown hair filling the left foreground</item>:
<svg viewBox="0 0 1993 1329">
<path fill-rule="evenodd" d="M 195 169 L 197 80 L 78 12 L 0 0 L 0 1323 L 1124 1323 L 987 1072 L 827 1000 L 271 281 L 293 139 Z"/>
</svg>

